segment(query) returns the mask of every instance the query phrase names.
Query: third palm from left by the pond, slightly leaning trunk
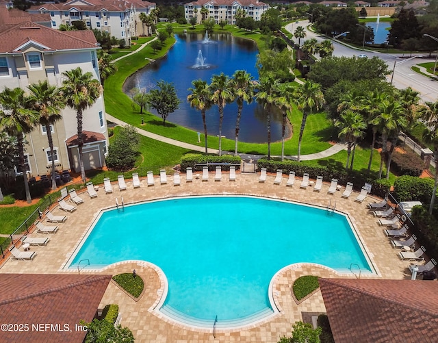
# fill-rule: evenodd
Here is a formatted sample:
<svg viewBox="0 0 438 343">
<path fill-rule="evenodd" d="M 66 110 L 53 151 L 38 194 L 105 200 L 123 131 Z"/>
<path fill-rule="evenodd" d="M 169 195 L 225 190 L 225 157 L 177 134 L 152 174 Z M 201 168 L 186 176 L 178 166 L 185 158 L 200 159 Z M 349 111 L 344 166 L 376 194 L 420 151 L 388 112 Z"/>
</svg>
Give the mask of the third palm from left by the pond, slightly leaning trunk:
<svg viewBox="0 0 438 343">
<path fill-rule="evenodd" d="M 237 156 L 237 141 L 239 138 L 240 118 L 244 102 L 252 103 L 255 97 L 253 77 L 246 71 L 235 71 L 231 80 L 231 87 L 234 88 L 234 94 L 237 101 L 237 118 L 235 120 L 235 147 L 234 155 Z"/>
</svg>

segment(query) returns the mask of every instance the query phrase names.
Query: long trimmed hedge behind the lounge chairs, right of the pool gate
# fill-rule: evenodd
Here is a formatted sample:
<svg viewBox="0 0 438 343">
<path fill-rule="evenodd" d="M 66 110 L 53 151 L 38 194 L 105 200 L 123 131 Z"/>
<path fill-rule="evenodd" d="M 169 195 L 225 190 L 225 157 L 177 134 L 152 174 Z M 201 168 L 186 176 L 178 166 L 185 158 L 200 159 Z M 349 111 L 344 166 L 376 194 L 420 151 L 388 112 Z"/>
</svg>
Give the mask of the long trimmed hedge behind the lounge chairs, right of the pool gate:
<svg viewBox="0 0 438 343">
<path fill-rule="evenodd" d="M 297 162 L 293 160 L 268 160 L 266 157 L 262 157 L 257 161 L 257 168 L 266 168 L 268 172 L 275 173 L 277 169 L 283 170 L 283 174 L 289 175 L 290 171 L 294 171 L 295 175 L 302 177 L 304 173 L 308 173 L 312 179 L 316 179 L 318 176 L 322 176 L 324 181 L 331 181 L 331 179 L 337 179 L 339 184 L 346 185 L 347 182 L 353 183 L 355 190 L 361 190 L 365 183 L 372 185 L 371 192 L 376 196 L 384 198 L 391 188 L 391 182 L 387 179 L 376 179 L 375 173 L 363 173 L 359 170 L 338 170 L 334 168 L 328 168 L 326 166 L 308 165 L 305 162 Z"/>
</svg>

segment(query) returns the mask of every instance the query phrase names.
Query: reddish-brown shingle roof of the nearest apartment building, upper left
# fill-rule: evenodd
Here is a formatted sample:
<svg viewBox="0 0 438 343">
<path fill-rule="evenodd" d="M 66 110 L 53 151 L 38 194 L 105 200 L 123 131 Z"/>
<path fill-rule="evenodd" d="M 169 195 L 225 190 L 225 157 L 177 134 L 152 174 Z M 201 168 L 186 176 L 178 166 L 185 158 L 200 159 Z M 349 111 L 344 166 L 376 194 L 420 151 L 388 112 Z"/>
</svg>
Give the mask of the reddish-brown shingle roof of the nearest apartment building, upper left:
<svg viewBox="0 0 438 343">
<path fill-rule="evenodd" d="M 12 53 L 26 42 L 36 42 L 51 50 L 96 48 L 96 38 L 90 30 L 58 31 L 30 21 L 0 26 L 0 53 Z"/>
</svg>

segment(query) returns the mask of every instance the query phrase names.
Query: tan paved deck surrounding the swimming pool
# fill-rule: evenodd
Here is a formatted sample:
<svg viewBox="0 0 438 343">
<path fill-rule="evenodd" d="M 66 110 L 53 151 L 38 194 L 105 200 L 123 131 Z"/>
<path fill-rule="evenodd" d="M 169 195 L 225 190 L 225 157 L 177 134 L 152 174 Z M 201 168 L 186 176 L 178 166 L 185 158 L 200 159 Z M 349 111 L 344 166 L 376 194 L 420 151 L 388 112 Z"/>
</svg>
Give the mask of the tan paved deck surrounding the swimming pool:
<svg viewBox="0 0 438 343">
<path fill-rule="evenodd" d="M 197 174 L 197 173 L 196 173 Z M 155 186 L 147 186 L 146 180 L 142 179 L 141 187 L 133 189 L 131 181 L 127 181 L 127 190 L 118 190 L 117 183 L 113 183 L 114 192 L 105 194 L 103 186 L 99 188 L 98 196 L 90 199 L 88 194 L 81 193 L 84 203 L 77 206 L 73 213 L 66 213 L 58 207 L 52 209 L 55 215 L 66 215 L 68 219 L 61 223 L 59 231 L 55 234 L 32 233 L 34 237 L 50 237 L 47 246 L 31 246 L 31 251 L 36 251 L 37 256 L 31 262 L 12 261 L 8 259 L 2 266 L 2 273 L 65 273 L 62 270 L 75 248 L 88 231 L 100 210 L 114 207 L 115 198 L 123 196 L 125 204 L 147 201 L 152 199 L 164 199 L 172 196 L 196 196 L 196 195 L 252 195 L 265 196 L 274 199 L 296 201 L 326 207 L 332 199 L 336 201 L 336 209 L 339 212 L 348 214 L 352 224 L 357 230 L 357 235 L 363 242 L 372 264 L 378 274 L 374 278 L 383 279 L 410 279 L 411 273 L 408 266 L 411 262 L 401 261 L 398 251 L 391 247 L 389 240 L 383 233 L 375 218 L 367 208 L 367 204 L 380 199 L 368 196 L 363 203 L 357 203 L 355 198 L 357 192 L 350 195 L 349 199 L 342 199 L 342 190 L 331 195 L 327 193 L 329 184 L 324 183 L 320 192 L 313 191 L 313 187 L 300 189 L 300 180 L 296 179 L 293 187 L 287 187 L 287 178 L 283 175 L 280 185 L 274 185 L 274 175 L 268 175 L 265 183 L 259 183 L 259 175 L 237 173 L 236 181 L 229 181 L 228 174 L 222 173 L 222 181 L 214 181 L 214 174 L 210 173 L 209 181 L 202 181 L 194 177 L 192 182 L 185 181 L 185 175 L 181 175 L 181 186 L 174 186 L 172 176 L 168 176 L 166 184 L 160 184 L 159 177 L 155 177 Z M 196 212 L 196 209 L 194 209 Z M 169 210 L 171 214 L 171 209 Z M 263 214 L 255 214 L 255 216 Z M 147 220 L 141 218 L 140 220 Z M 255 219 L 256 220 L 256 219 Z M 250 225 L 252 222 L 248 222 Z M 293 225 L 292 218 L 285 218 L 285 223 Z M 47 224 L 44 220 L 44 224 Z M 167 253 L 167 252 L 163 252 Z M 281 249 L 281 238 L 279 238 L 279 253 L 286 253 Z M 302 313 L 325 312 L 324 302 L 320 291 L 309 296 L 299 305 L 291 296 L 291 287 L 295 279 L 302 275 L 317 275 L 320 277 L 357 277 L 358 273 L 351 275 L 339 275 L 334 270 L 314 264 L 295 264 L 283 269 L 274 278 L 272 295 L 276 301 L 280 313 L 268 320 L 243 327 L 240 329 L 217 329 L 216 338 L 213 337 L 211 329 L 192 329 L 190 327 L 172 322 L 153 311 L 163 292 L 163 282 L 155 268 L 143 262 L 120 262 L 108 266 L 103 270 L 93 270 L 92 273 L 103 273 L 116 275 L 121 272 L 133 272 L 144 279 L 144 294 L 140 300 L 135 301 L 125 294 L 112 281 L 103 296 L 101 306 L 103 308 L 109 303 L 119 305 L 122 314 L 121 325 L 127 326 L 133 332 L 136 342 L 278 342 L 283 335 L 290 336 L 292 325 L 302 320 Z M 90 271 L 81 270 L 81 274 Z M 77 273 L 71 272 L 71 273 Z M 370 277 L 361 275 L 361 278 Z M 78 322 L 81 318 L 78 318 Z M 218 318 L 220 320 L 220 318 Z M 211 320 L 211 325 L 213 325 Z"/>
</svg>

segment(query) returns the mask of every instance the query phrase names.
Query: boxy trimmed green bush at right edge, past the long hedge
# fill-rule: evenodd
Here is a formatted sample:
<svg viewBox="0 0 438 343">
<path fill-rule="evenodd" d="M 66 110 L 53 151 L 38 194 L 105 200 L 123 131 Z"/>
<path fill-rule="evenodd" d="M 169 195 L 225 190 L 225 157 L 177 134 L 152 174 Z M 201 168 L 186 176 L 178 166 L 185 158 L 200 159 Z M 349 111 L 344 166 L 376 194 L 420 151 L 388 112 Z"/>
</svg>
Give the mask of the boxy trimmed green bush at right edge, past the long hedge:
<svg viewBox="0 0 438 343">
<path fill-rule="evenodd" d="M 394 198 L 397 201 L 421 201 L 430 203 L 433 179 L 421 179 L 409 175 L 400 176 L 394 182 Z"/>
</svg>

